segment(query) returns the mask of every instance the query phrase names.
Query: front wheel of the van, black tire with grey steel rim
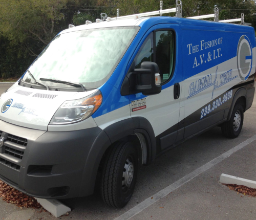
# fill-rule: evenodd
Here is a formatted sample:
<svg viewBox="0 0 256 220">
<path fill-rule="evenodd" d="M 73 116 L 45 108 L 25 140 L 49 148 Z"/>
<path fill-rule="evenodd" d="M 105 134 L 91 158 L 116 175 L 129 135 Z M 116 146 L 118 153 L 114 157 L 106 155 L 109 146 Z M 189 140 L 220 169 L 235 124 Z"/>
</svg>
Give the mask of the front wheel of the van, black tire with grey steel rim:
<svg viewBox="0 0 256 220">
<path fill-rule="evenodd" d="M 131 199 L 138 172 L 138 152 L 131 142 L 115 143 L 106 155 L 101 196 L 112 207 L 122 208 Z"/>
</svg>

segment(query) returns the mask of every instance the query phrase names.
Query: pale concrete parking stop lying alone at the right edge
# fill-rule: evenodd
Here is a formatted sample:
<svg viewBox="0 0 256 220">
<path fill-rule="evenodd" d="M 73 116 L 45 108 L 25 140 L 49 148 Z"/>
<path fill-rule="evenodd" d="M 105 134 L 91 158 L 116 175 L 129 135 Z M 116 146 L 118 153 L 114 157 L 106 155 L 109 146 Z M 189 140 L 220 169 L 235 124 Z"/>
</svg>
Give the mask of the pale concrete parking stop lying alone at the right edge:
<svg viewBox="0 0 256 220">
<path fill-rule="evenodd" d="M 243 178 L 234 177 L 232 175 L 227 175 L 224 173 L 221 174 L 220 183 L 237 184 L 237 185 L 243 185 L 243 186 L 247 186 L 247 187 L 256 189 L 256 181 L 246 180 Z"/>
</svg>

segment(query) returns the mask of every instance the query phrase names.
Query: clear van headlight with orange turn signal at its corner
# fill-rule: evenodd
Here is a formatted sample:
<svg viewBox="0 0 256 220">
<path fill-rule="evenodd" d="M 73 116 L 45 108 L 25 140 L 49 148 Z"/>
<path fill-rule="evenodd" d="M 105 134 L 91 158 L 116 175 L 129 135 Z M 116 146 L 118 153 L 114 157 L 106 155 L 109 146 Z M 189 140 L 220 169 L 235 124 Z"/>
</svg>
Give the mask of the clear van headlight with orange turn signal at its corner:
<svg viewBox="0 0 256 220">
<path fill-rule="evenodd" d="M 72 124 L 90 117 L 102 103 L 102 94 L 98 90 L 92 95 L 64 102 L 54 114 L 51 125 Z"/>
</svg>

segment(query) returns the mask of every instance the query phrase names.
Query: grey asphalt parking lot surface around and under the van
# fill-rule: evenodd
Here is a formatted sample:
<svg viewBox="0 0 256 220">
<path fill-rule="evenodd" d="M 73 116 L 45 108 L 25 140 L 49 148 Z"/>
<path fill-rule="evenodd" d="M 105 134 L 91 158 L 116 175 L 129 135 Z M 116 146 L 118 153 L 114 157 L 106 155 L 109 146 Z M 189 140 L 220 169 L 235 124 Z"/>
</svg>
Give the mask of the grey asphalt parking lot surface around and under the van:
<svg viewBox="0 0 256 220">
<path fill-rule="evenodd" d="M 0 94 L 9 86 L 0 84 Z M 254 100 L 244 114 L 238 138 L 227 139 L 216 127 L 166 152 L 150 166 L 140 166 L 135 192 L 123 209 L 106 206 L 96 187 L 91 196 L 62 200 L 72 211 L 59 219 L 255 219 L 256 198 L 241 196 L 219 183 L 222 173 L 256 181 L 256 140 L 250 139 L 256 135 L 255 118 Z M 248 139 L 250 143 L 234 152 Z M 223 157 L 227 152 L 229 155 Z M 175 185 L 178 187 L 171 190 L 169 186 Z M 154 196 L 166 187 L 169 193 L 156 200 Z M 56 219 L 48 212 L 37 211 L 0 200 L 1 219 Z"/>
</svg>

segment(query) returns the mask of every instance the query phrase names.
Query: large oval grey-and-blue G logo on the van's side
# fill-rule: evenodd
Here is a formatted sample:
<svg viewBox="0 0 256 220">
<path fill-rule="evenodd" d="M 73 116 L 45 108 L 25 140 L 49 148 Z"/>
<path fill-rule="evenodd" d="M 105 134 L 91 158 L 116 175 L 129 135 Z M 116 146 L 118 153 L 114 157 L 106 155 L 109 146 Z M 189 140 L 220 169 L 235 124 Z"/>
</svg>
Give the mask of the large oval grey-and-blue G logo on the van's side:
<svg viewBox="0 0 256 220">
<path fill-rule="evenodd" d="M 251 43 L 246 35 L 241 36 L 238 42 L 237 61 L 239 76 L 245 81 L 251 73 L 252 66 Z"/>
</svg>

